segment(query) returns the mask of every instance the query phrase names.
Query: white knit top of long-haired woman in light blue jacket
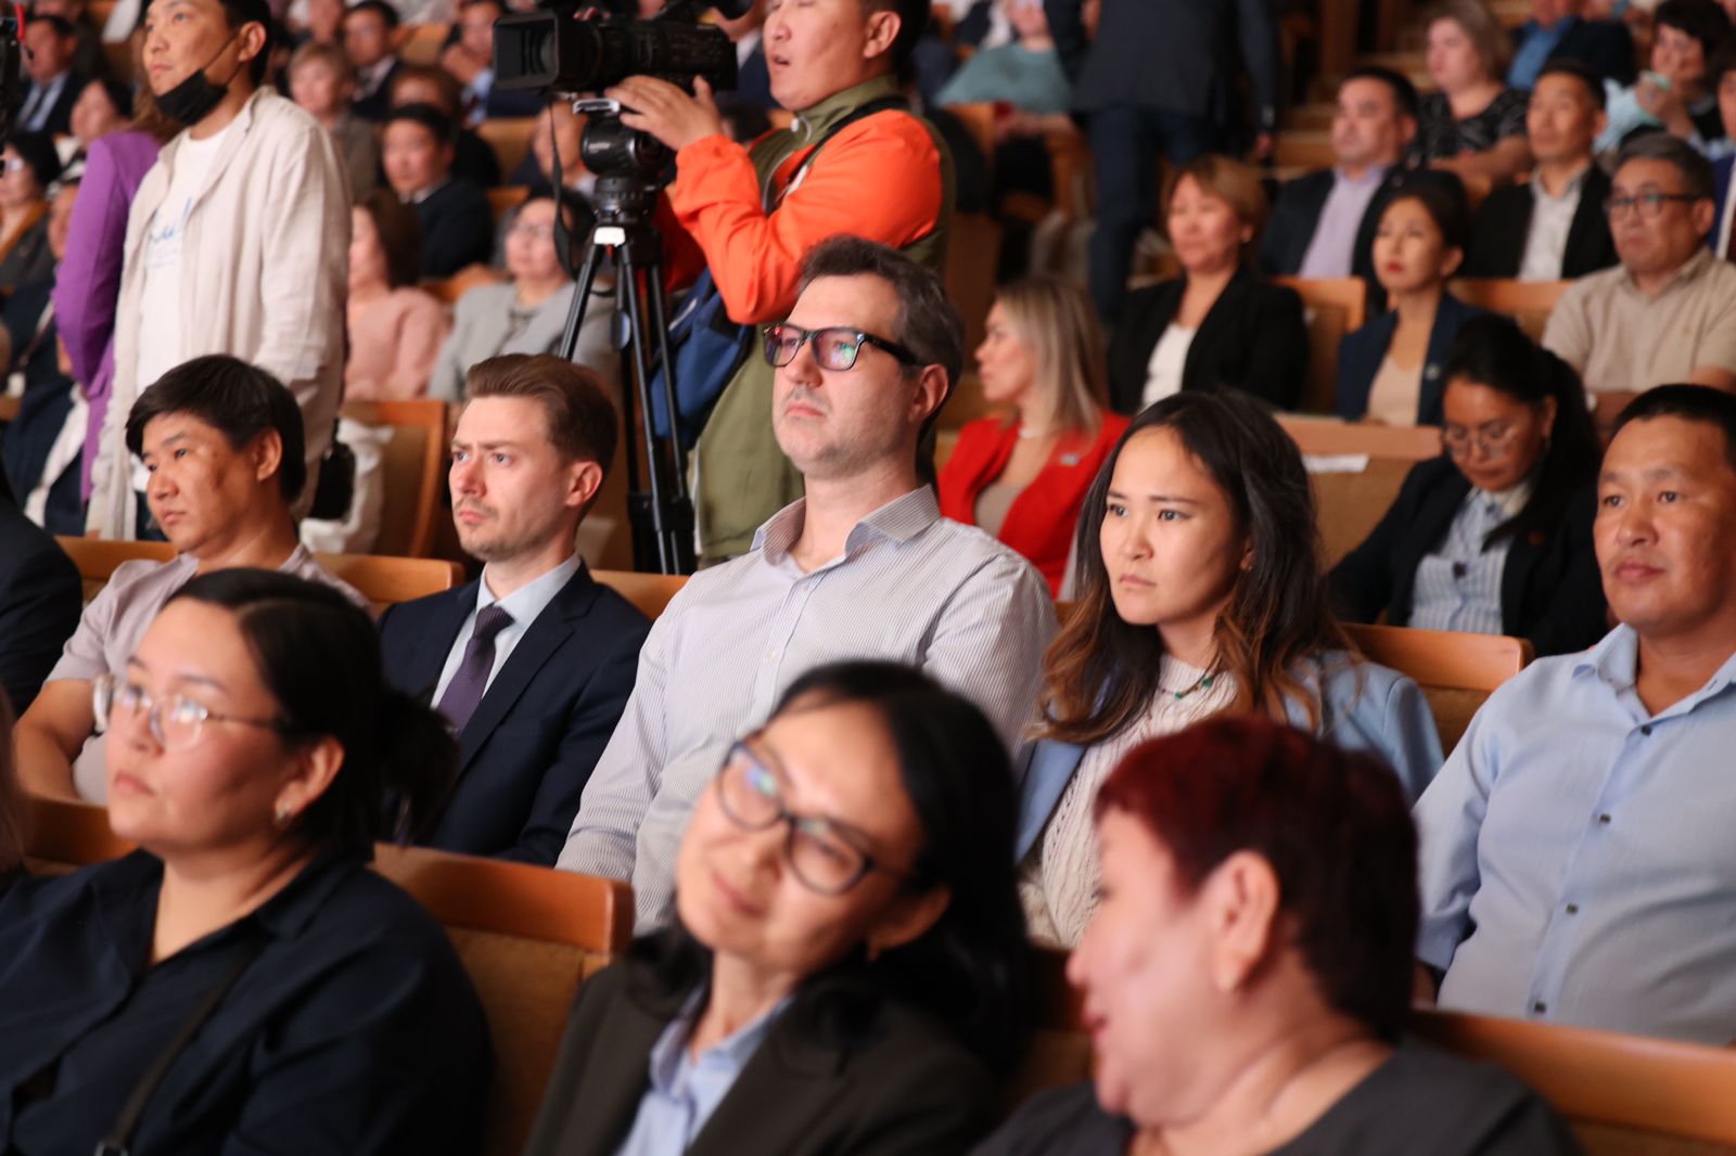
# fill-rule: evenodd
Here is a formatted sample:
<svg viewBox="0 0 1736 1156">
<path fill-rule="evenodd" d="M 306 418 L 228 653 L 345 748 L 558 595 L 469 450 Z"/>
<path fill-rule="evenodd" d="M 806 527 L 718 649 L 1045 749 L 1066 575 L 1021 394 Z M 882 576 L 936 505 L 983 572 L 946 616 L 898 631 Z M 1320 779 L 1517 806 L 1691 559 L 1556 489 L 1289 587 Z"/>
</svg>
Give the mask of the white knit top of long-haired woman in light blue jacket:
<svg viewBox="0 0 1736 1156">
<path fill-rule="evenodd" d="M 1097 911 L 1097 831 L 1092 824 L 1097 788 L 1146 739 L 1186 731 L 1234 701 L 1233 675 L 1220 672 L 1212 686 L 1201 686 L 1203 677 L 1200 667 L 1165 654 L 1158 693 L 1146 713 L 1085 752 L 1042 837 L 1019 864 L 1019 899 L 1035 939 L 1073 948 L 1085 934 Z"/>
</svg>

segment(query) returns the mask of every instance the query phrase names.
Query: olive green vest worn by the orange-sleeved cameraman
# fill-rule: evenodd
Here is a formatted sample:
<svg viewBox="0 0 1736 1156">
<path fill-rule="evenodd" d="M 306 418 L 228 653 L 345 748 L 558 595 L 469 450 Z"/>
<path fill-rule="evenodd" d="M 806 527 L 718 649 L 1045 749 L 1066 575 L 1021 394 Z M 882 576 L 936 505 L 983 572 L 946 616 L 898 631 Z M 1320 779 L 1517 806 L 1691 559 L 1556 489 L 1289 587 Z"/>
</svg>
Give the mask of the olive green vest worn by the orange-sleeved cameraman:
<svg viewBox="0 0 1736 1156">
<path fill-rule="evenodd" d="M 778 165 L 826 134 L 835 123 L 871 101 L 898 95 L 891 76 L 845 89 L 806 109 L 795 127 L 774 132 L 753 146 L 753 172 L 760 187 Z M 934 125 L 924 122 L 941 154 L 941 219 L 936 227 L 904 246 L 911 260 L 946 273 L 946 234 L 953 215 L 953 158 Z M 825 156 L 816 163 L 825 163 Z M 816 238 L 823 240 L 823 238 Z M 873 238 L 870 238 L 873 240 Z M 746 363 L 717 399 L 694 450 L 694 514 L 700 522 L 700 555 L 705 564 L 746 554 L 753 531 L 767 517 L 802 496 L 802 476 L 783 456 L 771 425 L 771 389 L 776 371 L 755 340 Z"/>
</svg>

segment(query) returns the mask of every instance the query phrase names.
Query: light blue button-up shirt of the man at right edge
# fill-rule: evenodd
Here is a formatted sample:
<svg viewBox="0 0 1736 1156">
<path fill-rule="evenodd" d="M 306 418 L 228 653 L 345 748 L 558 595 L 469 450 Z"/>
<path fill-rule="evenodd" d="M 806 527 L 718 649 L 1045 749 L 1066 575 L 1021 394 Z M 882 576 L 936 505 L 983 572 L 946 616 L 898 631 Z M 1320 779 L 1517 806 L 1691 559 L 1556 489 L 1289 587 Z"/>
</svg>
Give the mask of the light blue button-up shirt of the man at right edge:
<svg viewBox="0 0 1736 1156">
<path fill-rule="evenodd" d="M 1535 661 L 1417 804 L 1441 1007 L 1736 1040 L 1736 654 L 1656 715 L 1637 658 Z"/>
</svg>

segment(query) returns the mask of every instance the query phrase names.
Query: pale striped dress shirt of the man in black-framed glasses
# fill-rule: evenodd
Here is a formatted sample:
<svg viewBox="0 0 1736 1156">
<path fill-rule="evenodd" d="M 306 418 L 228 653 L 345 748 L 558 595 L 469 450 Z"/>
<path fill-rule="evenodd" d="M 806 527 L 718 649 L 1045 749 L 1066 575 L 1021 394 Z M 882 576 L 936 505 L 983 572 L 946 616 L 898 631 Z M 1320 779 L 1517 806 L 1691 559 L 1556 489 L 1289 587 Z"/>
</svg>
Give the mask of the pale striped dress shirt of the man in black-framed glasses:
<svg viewBox="0 0 1736 1156">
<path fill-rule="evenodd" d="M 913 489 L 863 517 L 814 571 L 790 557 L 806 502 L 753 550 L 700 571 L 651 627 L 620 726 L 585 786 L 559 866 L 630 880 L 641 932 L 674 913 L 675 851 L 729 745 L 811 668 L 904 661 L 983 708 L 1009 746 L 1031 720 L 1055 632 L 1049 585 Z"/>
</svg>

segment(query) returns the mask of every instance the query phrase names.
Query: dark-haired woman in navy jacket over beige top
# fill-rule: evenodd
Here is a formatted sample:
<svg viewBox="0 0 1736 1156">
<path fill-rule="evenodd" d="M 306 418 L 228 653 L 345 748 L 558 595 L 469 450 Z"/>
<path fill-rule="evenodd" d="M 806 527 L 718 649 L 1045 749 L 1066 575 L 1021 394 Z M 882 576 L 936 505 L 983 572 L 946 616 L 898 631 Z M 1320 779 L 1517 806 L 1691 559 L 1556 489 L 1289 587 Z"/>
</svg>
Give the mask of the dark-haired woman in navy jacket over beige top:
<svg viewBox="0 0 1736 1156">
<path fill-rule="evenodd" d="M 1441 424 L 1441 363 L 1458 326 L 1483 312 L 1446 288 L 1469 243 L 1470 213 L 1460 191 L 1413 181 L 1392 194 L 1373 245 L 1375 279 L 1391 311 L 1338 342 L 1338 417 Z"/>
</svg>

